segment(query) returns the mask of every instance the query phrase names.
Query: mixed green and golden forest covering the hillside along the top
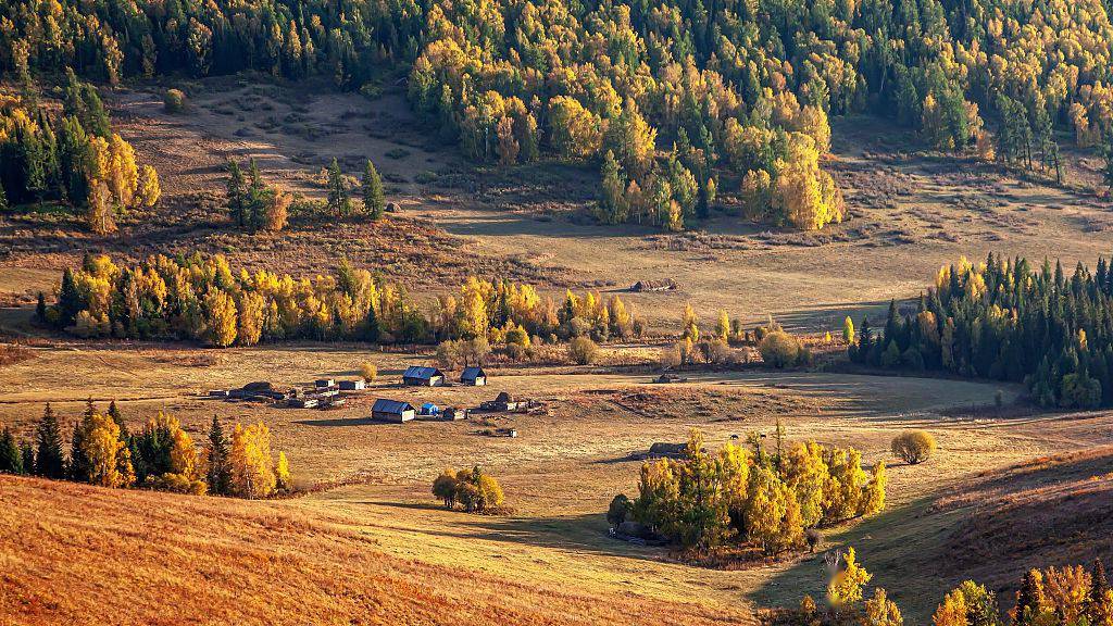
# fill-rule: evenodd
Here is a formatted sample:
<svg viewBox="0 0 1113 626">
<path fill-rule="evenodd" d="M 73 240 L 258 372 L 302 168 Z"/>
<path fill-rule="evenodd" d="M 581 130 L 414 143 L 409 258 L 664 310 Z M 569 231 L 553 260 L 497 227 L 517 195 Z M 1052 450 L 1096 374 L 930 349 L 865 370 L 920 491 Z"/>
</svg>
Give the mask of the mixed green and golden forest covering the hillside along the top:
<svg viewBox="0 0 1113 626">
<path fill-rule="evenodd" d="M 470 156 L 599 166 L 598 216 L 669 229 L 721 190 L 749 217 L 844 215 L 828 115 L 874 111 L 939 149 L 1058 169 L 1054 127 L 1113 130 L 1107 0 L 663 3 L 7 2 L 0 65 L 30 80 L 257 69 L 412 105 Z"/>
</svg>

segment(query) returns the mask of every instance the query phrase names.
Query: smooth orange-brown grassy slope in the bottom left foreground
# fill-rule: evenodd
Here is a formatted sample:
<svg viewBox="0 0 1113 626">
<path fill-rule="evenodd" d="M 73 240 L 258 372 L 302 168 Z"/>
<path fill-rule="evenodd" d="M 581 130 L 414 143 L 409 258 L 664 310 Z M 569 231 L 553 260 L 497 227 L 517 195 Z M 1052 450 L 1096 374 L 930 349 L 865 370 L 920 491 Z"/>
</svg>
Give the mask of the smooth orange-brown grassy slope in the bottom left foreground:
<svg viewBox="0 0 1113 626">
<path fill-rule="evenodd" d="M 0 477 L 3 624 L 745 623 L 384 555 L 352 519 Z"/>
</svg>

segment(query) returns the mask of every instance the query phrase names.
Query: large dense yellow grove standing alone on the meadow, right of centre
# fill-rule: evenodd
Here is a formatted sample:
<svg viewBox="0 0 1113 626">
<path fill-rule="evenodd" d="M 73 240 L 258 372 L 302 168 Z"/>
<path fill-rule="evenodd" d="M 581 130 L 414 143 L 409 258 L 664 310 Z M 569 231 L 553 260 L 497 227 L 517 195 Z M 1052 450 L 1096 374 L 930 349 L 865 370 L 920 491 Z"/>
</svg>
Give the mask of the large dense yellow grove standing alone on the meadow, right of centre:
<svg viewBox="0 0 1113 626">
<path fill-rule="evenodd" d="M 642 464 L 638 497 L 618 497 L 612 522 L 629 515 L 654 534 L 703 551 L 737 540 L 775 554 L 802 547 L 808 528 L 885 507 L 884 461 L 867 473 L 853 448 L 815 442 L 785 448 L 782 438 L 778 428 L 772 451 L 751 434 L 752 450 L 728 443 L 710 453 L 693 430 L 682 459 Z"/>
</svg>

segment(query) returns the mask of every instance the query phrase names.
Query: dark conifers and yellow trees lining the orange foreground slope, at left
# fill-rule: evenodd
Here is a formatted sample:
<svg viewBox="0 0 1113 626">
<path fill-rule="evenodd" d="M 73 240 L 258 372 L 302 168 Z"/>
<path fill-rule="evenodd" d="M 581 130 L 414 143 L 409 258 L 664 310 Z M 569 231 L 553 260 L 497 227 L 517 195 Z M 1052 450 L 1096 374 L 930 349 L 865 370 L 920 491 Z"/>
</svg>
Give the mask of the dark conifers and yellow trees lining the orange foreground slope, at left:
<svg viewBox="0 0 1113 626">
<path fill-rule="evenodd" d="M 229 440 L 214 417 L 207 443 L 198 450 L 178 420 L 162 411 L 138 432 L 129 432 L 116 402 L 102 413 L 89 401 L 73 424 L 67 456 L 58 417 L 47 404 L 31 438 L 19 442 L 4 428 L 0 472 L 242 498 L 266 498 L 292 489 L 286 454 L 273 458 L 270 432 L 264 423 L 247 428 L 237 423 Z"/>
</svg>

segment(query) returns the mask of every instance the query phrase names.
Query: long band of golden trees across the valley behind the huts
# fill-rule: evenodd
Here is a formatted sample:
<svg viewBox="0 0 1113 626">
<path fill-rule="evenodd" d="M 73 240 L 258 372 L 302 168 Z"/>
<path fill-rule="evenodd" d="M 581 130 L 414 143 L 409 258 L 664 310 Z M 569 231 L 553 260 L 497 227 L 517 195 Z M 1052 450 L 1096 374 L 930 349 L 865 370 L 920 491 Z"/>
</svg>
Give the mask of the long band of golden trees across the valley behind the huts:
<svg viewBox="0 0 1113 626">
<path fill-rule="evenodd" d="M 248 193 L 248 197 L 250 194 Z M 346 260 L 329 275 L 295 280 L 234 272 L 225 257 L 150 256 L 117 266 L 87 255 L 67 268 L 41 321 L 85 336 L 191 339 L 216 346 L 284 339 L 370 342 L 482 340 L 529 348 L 536 338 L 629 338 L 643 323 L 614 295 L 568 292 L 563 306 L 526 284 L 469 277 L 425 313 L 398 287 Z"/>
</svg>

